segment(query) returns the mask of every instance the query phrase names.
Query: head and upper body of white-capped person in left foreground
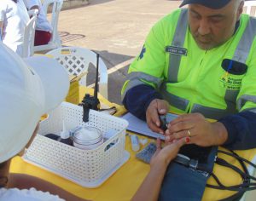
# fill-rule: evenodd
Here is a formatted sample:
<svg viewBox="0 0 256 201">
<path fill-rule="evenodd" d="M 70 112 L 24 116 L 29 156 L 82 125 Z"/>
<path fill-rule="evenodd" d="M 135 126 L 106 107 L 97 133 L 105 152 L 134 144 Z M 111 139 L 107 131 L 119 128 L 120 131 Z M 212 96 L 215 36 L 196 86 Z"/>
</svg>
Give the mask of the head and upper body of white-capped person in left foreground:
<svg viewBox="0 0 256 201">
<path fill-rule="evenodd" d="M 11 159 L 37 134 L 41 115 L 67 95 L 66 70 L 44 56 L 22 60 L 1 42 L 0 69 L 0 201 L 84 200 L 37 177 L 9 173 Z"/>
</svg>

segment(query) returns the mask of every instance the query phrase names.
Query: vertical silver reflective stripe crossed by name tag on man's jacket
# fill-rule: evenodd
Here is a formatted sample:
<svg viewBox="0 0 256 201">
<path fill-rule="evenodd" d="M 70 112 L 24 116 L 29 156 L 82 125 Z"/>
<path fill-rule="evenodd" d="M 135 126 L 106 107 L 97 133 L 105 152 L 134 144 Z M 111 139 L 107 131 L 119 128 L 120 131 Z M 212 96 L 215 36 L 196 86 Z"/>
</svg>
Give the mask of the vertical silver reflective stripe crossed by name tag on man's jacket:
<svg viewBox="0 0 256 201">
<path fill-rule="evenodd" d="M 172 39 L 172 46 L 182 48 L 188 28 L 188 9 L 182 9 L 177 20 L 177 26 Z M 168 81 L 177 83 L 177 73 L 180 65 L 181 55 L 169 55 Z"/>
</svg>

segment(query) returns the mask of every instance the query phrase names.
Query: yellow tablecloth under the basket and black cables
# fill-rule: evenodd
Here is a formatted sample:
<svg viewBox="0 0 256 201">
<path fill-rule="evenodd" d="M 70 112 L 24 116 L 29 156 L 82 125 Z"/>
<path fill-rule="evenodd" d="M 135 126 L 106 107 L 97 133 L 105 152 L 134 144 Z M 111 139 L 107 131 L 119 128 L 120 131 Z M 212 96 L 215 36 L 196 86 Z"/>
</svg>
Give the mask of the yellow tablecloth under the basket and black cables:
<svg viewBox="0 0 256 201">
<path fill-rule="evenodd" d="M 91 89 L 80 88 L 80 99 L 84 97 L 85 92 L 90 92 Z M 117 104 L 110 103 L 108 100 L 104 99 L 99 95 L 99 99 L 102 103 L 108 106 L 116 106 L 118 108 L 118 113 L 120 115 L 125 111 L 124 107 Z M 141 137 L 141 136 L 140 136 Z M 148 141 L 150 141 L 148 139 Z M 52 174 L 47 170 L 40 169 L 32 164 L 27 164 L 20 157 L 15 157 L 12 161 L 10 171 L 13 173 L 23 173 L 28 175 L 34 175 L 42 178 L 46 181 L 50 181 L 55 185 L 64 188 L 68 192 L 81 197 L 92 200 L 99 201 L 126 201 L 131 200 L 133 194 L 137 191 L 137 188 L 141 185 L 144 177 L 148 174 L 149 165 L 135 158 L 135 152 L 131 151 L 131 142 L 128 136 L 126 136 L 125 150 L 130 152 L 131 158 L 118 169 L 107 181 L 105 181 L 101 187 L 97 188 L 85 188 L 61 178 L 58 175 Z M 252 160 L 253 156 L 256 155 L 256 149 L 251 150 L 251 152 L 239 152 L 241 156 L 246 155 L 248 159 Z M 237 164 L 238 162 L 233 158 L 226 158 L 231 164 Z M 225 169 L 215 165 L 214 173 L 218 175 L 220 181 L 225 181 L 226 185 L 239 184 L 241 178 L 239 175 L 234 174 L 230 169 Z M 212 183 L 212 179 L 209 181 Z M 214 182 L 213 182 L 214 183 Z M 234 192 L 229 191 L 219 191 L 207 188 L 204 193 L 203 200 L 218 200 L 221 198 L 226 198 L 227 196 L 233 194 Z"/>
</svg>

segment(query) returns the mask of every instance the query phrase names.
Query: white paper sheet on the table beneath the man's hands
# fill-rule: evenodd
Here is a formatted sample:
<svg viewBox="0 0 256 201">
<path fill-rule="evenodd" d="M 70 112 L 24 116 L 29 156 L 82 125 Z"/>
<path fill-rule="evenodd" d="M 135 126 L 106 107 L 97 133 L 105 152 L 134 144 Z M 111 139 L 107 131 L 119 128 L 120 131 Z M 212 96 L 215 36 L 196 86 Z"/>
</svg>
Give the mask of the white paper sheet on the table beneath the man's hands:
<svg viewBox="0 0 256 201">
<path fill-rule="evenodd" d="M 158 133 L 154 133 L 151 129 L 148 128 L 148 124 L 144 122 L 143 120 L 136 118 L 131 113 L 125 114 L 123 117 L 129 122 L 128 130 L 131 130 L 132 132 L 136 132 L 142 135 L 147 135 L 154 138 L 160 138 L 161 140 L 165 140 L 165 137 L 163 135 L 160 135 Z M 177 118 L 176 114 L 168 113 L 166 115 L 167 122 L 171 122 L 174 118 Z"/>
</svg>

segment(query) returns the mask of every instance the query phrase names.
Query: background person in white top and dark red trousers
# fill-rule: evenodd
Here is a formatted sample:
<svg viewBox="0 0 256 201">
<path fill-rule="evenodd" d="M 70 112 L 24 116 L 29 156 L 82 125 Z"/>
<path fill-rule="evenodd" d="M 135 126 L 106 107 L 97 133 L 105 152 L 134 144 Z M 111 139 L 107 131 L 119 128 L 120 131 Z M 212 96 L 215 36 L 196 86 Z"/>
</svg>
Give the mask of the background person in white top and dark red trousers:
<svg viewBox="0 0 256 201">
<path fill-rule="evenodd" d="M 41 0 L 24 0 L 26 9 L 38 9 L 38 19 L 35 32 L 35 46 L 49 43 L 52 33 L 52 26 L 47 20 L 46 14 L 42 7 Z"/>
</svg>

